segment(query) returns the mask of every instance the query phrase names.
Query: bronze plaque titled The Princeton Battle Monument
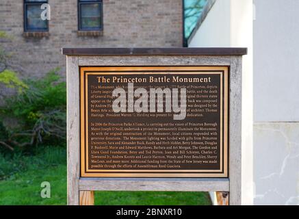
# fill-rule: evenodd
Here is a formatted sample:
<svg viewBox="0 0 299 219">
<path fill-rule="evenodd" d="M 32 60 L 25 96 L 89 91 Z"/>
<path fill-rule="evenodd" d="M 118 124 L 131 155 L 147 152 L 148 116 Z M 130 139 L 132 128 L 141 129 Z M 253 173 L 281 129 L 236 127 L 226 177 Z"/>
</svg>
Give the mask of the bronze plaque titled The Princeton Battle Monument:
<svg viewBox="0 0 299 219">
<path fill-rule="evenodd" d="M 228 177 L 227 66 L 81 67 L 81 177 Z"/>
</svg>

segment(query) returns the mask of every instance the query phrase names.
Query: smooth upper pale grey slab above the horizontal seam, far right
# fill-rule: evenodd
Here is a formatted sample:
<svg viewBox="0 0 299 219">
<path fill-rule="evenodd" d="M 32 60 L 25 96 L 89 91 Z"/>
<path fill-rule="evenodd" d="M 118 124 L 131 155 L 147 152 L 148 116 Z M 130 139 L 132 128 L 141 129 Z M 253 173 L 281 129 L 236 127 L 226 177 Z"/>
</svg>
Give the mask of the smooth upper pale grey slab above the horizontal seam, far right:
<svg viewBox="0 0 299 219">
<path fill-rule="evenodd" d="M 299 1 L 255 6 L 255 121 L 299 121 Z"/>
</svg>

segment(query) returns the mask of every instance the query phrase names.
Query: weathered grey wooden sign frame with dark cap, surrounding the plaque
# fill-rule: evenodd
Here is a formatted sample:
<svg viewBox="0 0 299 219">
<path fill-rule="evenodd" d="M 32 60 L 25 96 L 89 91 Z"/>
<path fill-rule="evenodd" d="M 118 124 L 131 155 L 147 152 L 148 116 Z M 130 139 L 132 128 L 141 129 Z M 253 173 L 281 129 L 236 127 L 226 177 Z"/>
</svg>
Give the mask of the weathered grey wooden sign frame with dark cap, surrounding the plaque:
<svg viewBox="0 0 299 219">
<path fill-rule="evenodd" d="M 246 48 L 65 48 L 67 81 L 68 205 L 92 204 L 92 191 L 229 192 L 241 204 L 242 55 Z M 229 177 L 81 177 L 80 82 L 84 66 L 226 66 L 229 69 Z M 91 198 L 91 201 L 85 202 Z M 85 200 L 85 201 L 84 201 Z"/>
</svg>

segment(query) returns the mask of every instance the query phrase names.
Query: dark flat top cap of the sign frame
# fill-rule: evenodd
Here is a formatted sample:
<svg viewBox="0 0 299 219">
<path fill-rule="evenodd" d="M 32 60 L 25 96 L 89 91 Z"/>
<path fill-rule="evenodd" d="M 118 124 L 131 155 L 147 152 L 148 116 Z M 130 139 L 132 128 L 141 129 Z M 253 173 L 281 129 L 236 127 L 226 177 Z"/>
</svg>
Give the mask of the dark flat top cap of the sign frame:
<svg viewBox="0 0 299 219">
<path fill-rule="evenodd" d="M 63 55 L 246 55 L 247 48 L 62 48 Z"/>
</svg>

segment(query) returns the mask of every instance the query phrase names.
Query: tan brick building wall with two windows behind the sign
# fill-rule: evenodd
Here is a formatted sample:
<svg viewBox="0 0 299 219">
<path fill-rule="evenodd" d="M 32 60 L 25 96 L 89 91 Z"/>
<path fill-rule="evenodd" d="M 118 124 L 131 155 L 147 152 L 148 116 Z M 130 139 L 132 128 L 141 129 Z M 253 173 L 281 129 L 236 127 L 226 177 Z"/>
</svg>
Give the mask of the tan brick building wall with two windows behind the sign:
<svg viewBox="0 0 299 219">
<path fill-rule="evenodd" d="M 42 3 L 51 19 L 42 21 Z M 1 40 L 10 68 L 40 76 L 60 66 L 62 47 L 182 47 L 182 0 L 1 0 Z"/>
</svg>

